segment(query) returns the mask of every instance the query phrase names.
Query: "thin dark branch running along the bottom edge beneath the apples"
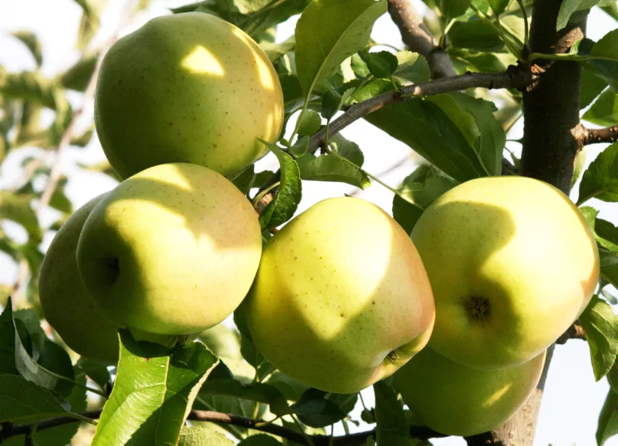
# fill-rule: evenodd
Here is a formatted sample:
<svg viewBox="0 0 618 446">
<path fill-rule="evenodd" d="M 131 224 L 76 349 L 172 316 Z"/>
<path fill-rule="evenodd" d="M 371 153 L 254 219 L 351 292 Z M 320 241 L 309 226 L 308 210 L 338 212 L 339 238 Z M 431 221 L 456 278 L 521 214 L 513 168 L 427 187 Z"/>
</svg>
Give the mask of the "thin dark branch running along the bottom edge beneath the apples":
<svg viewBox="0 0 618 446">
<path fill-rule="evenodd" d="M 90 412 L 83 412 L 82 416 L 89 419 L 98 419 L 101 416 L 101 410 L 92 410 Z M 266 432 L 286 438 L 290 441 L 298 443 L 299 445 L 308 445 L 305 437 L 295 430 L 288 429 L 275 425 L 273 423 L 266 423 L 263 420 L 254 420 L 247 418 L 246 416 L 240 416 L 236 414 L 225 414 L 222 412 L 214 412 L 211 410 L 192 410 L 187 417 L 190 421 L 209 421 L 211 423 L 229 424 L 240 427 L 247 427 L 247 429 L 257 430 L 260 432 Z M 73 418 L 72 416 L 61 416 L 54 419 L 41 421 L 36 425 L 36 431 L 51 429 L 52 427 L 58 427 L 70 423 L 76 423 L 80 420 Z M 27 435 L 34 430 L 34 424 L 27 425 L 13 425 L 12 423 L 2 423 L 0 429 L 0 443 L 3 443 L 7 438 L 18 435 Z M 376 431 L 370 430 L 366 432 L 358 432 L 356 434 L 335 436 L 330 443 L 331 438 L 327 435 L 312 435 L 310 436 L 313 446 L 348 446 L 348 445 L 364 445 L 369 436 L 375 436 Z M 446 435 L 435 432 L 428 427 L 412 426 L 410 428 L 410 436 L 413 438 L 439 438 Z"/>
</svg>

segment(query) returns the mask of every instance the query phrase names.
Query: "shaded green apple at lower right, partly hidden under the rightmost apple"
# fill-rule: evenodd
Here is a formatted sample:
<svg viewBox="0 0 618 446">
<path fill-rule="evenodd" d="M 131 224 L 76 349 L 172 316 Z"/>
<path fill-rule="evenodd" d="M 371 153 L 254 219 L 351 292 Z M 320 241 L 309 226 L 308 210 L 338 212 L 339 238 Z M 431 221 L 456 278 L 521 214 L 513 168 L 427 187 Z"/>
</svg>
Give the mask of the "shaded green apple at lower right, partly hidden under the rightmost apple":
<svg viewBox="0 0 618 446">
<path fill-rule="evenodd" d="M 471 436 L 502 425 L 536 388 L 545 352 L 500 370 L 474 370 L 424 348 L 393 375 L 415 421 L 445 435 Z"/>
</svg>

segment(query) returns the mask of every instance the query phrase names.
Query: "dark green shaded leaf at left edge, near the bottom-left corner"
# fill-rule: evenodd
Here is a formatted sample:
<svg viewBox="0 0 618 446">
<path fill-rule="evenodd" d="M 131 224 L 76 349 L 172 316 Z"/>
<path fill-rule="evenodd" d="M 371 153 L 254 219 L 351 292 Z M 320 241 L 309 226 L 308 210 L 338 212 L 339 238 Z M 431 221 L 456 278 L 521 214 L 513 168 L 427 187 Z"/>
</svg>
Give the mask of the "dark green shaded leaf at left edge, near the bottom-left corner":
<svg viewBox="0 0 618 446">
<path fill-rule="evenodd" d="M 70 415 L 54 395 L 16 375 L 0 375 L 0 423 Z"/>
</svg>

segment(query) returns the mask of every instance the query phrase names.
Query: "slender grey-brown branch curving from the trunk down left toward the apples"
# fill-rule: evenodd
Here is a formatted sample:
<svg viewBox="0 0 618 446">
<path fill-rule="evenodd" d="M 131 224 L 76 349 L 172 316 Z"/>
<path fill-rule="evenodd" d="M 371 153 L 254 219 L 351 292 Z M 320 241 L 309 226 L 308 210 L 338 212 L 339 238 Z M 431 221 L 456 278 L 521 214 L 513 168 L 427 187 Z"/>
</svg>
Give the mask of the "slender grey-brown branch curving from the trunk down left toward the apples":
<svg viewBox="0 0 618 446">
<path fill-rule="evenodd" d="M 398 90 L 387 91 L 373 98 L 364 100 L 363 102 L 357 102 L 349 107 L 343 115 L 339 116 L 336 120 L 330 123 L 328 137 L 332 138 L 334 135 L 345 129 L 345 127 L 352 124 L 356 120 L 359 120 L 369 113 L 373 113 L 387 107 L 387 105 L 403 102 L 416 96 L 432 96 L 439 93 L 448 93 L 450 91 L 460 91 L 469 88 L 486 88 L 486 89 L 502 89 L 502 88 L 516 88 L 523 89 L 532 82 L 535 82 L 536 75 L 529 69 L 525 69 L 520 66 L 510 66 L 507 71 L 503 73 L 471 73 L 468 71 L 466 74 L 459 76 L 452 76 L 450 78 L 442 78 L 429 80 L 428 82 L 422 82 L 415 85 L 407 85 Z M 308 153 L 314 153 L 321 148 L 326 140 L 325 127 L 315 133 L 309 140 L 307 147 Z M 277 170 L 275 175 L 268 183 L 260 190 L 266 190 L 269 186 L 279 181 L 281 172 Z M 260 193 L 258 192 L 258 193 Z M 260 199 L 258 202 L 258 211 L 261 211 L 268 203 L 270 203 L 275 195 L 275 190 L 271 190 Z"/>
</svg>

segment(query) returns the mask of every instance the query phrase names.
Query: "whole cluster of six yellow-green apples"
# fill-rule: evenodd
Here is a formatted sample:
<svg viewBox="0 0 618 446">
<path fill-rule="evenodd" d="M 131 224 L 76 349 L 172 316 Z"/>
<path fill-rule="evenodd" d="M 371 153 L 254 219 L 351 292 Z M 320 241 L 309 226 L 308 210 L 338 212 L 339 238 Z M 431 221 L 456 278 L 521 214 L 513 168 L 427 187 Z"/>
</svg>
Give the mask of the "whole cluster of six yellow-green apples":
<svg viewBox="0 0 618 446">
<path fill-rule="evenodd" d="M 66 344 L 117 361 L 118 328 L 172 346 L 233 311 L 282 372 L 354 393 L 392 375 L 419 423 L 468 436 L 534 391 L 545 351 L 585 309 L 599 254 L 560 190 L 466 181 L 407 234 L 378 206 L 325 199 L 266 243 L 229 181 L 275 142 L 283 94 L 237 27 L 152 19 L 104 57 L 95 124 L 124 179 L 62 225 L 39 279 Z"/>
</svg>

